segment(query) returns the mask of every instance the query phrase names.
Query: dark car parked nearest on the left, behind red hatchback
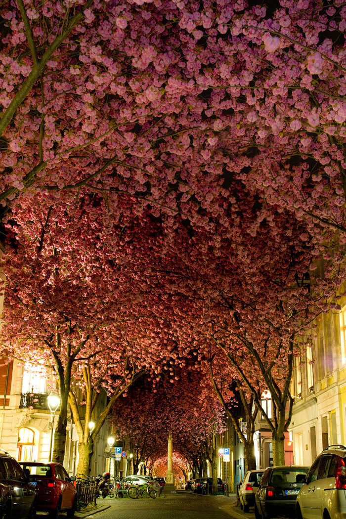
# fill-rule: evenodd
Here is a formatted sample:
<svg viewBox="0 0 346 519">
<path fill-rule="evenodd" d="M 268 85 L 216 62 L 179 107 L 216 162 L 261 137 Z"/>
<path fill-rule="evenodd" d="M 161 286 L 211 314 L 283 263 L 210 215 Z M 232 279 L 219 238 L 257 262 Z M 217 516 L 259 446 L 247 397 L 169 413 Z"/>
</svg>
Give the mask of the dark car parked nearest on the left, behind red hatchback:
<svg viewBox="0 0 346 519">
<path fill-rule="evenodd" d="M 0 452 L 0 510 L 3 519 L 34 519 L 36 490 L 18 461 Z"/>
</svg>

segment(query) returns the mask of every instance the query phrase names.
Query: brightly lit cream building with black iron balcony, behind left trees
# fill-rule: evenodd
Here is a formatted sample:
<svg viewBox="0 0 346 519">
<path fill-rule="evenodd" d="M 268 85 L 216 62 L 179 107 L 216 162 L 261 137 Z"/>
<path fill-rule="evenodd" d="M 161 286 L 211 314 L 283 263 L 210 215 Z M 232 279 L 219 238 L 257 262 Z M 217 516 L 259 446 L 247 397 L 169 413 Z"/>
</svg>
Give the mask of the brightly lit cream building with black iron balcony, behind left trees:
<svg viewBox="0 0 346 519">
<path fill-rule="evenodd" d="M 13 360 L 0 366 L 0 448 L 19 461 L 49 461 L 52 420 L 47 397 L 51 387 L 53 380 L 44 365 Z M 95 408 L 95 420 L 105 405 L 104 393 Z M 80 411 L 82 416 L 82 406 Z M 109 430 L 105 423 L 94 442 L 91 475 L 109 467 Z M 70 475 L 76 475 L 78 435 L 71 413 L 68 414 L 63 465 Z"/>
</svg>

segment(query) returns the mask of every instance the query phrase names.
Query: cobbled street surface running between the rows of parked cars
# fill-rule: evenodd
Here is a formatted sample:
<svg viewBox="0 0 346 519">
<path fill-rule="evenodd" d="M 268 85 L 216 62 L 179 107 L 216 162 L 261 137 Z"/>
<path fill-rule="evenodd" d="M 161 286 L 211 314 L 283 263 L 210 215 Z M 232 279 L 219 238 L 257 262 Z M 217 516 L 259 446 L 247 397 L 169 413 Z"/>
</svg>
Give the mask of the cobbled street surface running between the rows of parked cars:
<svg viewBox="0 0 346 519">
<path fill-rule="evenodd" d="M 77 513 L 76 519 L 254 519 L 253 513 L 241 512 L 235 496 L 202 496 L 188 492 L 162 493 L 157 499 L 102 500 L 102 508 L 87 514 Z M 61 514 L 61 519 L 63 514 Z"/>
</svg>

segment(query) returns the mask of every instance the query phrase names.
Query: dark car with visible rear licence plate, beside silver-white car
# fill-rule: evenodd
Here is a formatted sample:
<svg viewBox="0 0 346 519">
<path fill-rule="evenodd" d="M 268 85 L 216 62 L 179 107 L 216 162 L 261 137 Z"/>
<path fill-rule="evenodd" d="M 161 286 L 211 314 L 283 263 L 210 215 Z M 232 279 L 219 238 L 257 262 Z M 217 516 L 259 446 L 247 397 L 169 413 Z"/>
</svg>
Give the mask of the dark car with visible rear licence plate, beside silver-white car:
<svg viewBox="0 0 346 519">
<path fill-rule="evenodd" d="M 308 470 L 309 467 L 294 465 L 267 468 L 255 494 L 256 519 L 278 515 L 295 517 L 296 499 L 303 484 L 301 477 L 306 476 Z"/>
</svg>

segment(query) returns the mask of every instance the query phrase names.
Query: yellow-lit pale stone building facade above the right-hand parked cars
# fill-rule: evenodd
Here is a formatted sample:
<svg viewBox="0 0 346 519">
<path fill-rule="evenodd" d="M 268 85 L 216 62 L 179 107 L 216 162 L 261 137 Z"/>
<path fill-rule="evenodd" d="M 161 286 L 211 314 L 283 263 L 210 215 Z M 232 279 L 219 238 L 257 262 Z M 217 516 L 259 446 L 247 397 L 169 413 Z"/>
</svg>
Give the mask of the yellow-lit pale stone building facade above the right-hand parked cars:
<svg viewBox="0 0 346 519">
<path fill-rule="evenodd" d="M 294 462 L 311 465 L 328 445 L 345 444 L 346 305 L 321 314 L 310 347 L 295 359 L 290 424 Z"/>
</svg>

